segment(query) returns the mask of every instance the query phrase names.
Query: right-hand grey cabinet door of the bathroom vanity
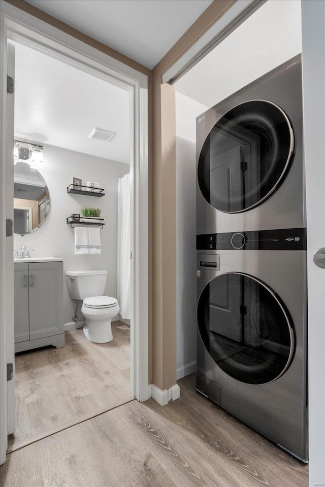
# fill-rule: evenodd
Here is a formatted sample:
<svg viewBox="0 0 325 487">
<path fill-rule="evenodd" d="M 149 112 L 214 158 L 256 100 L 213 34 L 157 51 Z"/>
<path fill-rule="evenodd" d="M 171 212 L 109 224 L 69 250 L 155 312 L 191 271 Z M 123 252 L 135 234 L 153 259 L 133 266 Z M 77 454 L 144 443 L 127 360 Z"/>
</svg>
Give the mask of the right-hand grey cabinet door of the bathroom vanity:
<svg viewBox="0 0 325 487">
<path fill-rule="evenodd" d="M 29 264 L 29 339 L 63 333 L 63 263 Z"/>
</svg>

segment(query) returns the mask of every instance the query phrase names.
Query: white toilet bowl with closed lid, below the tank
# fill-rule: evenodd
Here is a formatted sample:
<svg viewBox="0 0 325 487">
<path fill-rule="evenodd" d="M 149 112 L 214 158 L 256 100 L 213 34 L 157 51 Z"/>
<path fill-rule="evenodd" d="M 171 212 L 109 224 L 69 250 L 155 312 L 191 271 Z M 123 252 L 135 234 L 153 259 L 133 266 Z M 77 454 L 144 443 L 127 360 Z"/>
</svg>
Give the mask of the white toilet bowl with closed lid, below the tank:
<svg viewBox="0 0 325 487">
<path fill-rule="evenodd" d="M 81 312 L 86 324 L 83 327 L 85 337 L 96 343 L 107 343 L 113 339 L 112 318 L 120 307 L 117 299 L 110 296 L 94 296 L 83 301 Z"/>
</svg>

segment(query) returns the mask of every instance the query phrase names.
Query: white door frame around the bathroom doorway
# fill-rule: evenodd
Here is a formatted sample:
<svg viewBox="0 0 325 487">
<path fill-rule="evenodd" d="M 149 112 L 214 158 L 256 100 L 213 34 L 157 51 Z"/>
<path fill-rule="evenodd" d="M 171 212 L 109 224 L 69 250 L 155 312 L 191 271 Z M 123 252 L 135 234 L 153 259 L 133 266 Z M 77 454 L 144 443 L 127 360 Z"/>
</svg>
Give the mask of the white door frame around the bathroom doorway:
<svg viewBox="0 0 325 487">
<path fill-rule="evenodd" d="M 6 218 L 9 218 L 8 185 L 13 177 L 8 168 L 13 164 L 7 144 L 7 44 L 17 41 L 55 59 L 66 62 L 81 71 L 103 79 L 127 90 L 131 99 L 131 249 L 132 249 L 132 327 L 131 327 L 131 392 L 139 401 L 151 397 L 149 385 L 148 351 L 148 77 L 136 69 L 104 54 L 69 34 L 36 17 L 23 12 L 7 2 L 1 3 L 1 183 L 0 183 L 0 406 L 1 431 L 0 464 L 5 461 L 7 449 L 7 363 L 6 327 L 7 303 L 13 302 L 11 289 L 6 289 L 6 254 L 13 250 L 13 239 L 6 238 Z M 11 252 L 12 255 L 12 252 Z"/>
</svg>

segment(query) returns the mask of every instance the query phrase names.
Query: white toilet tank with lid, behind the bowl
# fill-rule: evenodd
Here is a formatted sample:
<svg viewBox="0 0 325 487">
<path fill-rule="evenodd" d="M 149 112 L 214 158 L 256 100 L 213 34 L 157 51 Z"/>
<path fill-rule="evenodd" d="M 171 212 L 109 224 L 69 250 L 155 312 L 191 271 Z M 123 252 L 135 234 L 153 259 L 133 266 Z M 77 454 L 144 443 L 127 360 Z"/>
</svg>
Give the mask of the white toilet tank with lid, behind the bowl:
<svg viewBox="0 0 325 487">
<path fill-rule="evenodd" d="M 68 291 L 72 299 L 103 296 L 107 270 L 68 270 Z"/>
</svg>

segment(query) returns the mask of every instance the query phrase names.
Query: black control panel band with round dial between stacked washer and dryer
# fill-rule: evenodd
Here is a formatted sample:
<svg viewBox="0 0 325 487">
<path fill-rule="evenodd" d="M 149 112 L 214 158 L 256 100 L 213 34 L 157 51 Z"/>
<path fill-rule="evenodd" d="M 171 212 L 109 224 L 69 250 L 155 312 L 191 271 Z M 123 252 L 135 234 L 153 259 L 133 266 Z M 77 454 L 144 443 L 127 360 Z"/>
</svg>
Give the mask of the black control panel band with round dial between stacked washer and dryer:
<svg viewBox="0 0 325 487">
<path fill-rule="evenodd" d="M 306 228 L 197 235 L 197 250 L 306 250 Z"/>
</svg>

